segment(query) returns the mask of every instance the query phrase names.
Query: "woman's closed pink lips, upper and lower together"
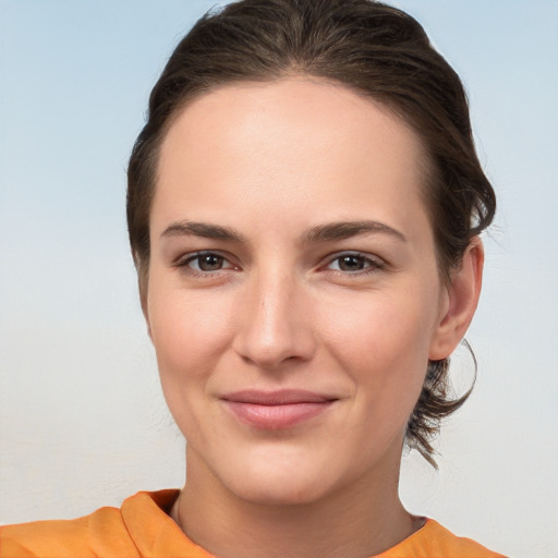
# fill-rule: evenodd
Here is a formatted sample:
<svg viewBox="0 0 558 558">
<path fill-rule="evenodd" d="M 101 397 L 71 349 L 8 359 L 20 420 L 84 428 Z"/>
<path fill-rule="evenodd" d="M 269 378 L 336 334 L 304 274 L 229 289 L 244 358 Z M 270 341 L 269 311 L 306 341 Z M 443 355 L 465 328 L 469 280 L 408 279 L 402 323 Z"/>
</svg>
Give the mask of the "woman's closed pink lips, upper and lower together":
<svg viewBox="0 0 558 558">
<path fill-rule="evenodd" d="M 292 428 L 326 412 L 338 399 L 305 390 L 244 390 L 221 398 L 243 424 L 277 430 Z"/>
</svg>

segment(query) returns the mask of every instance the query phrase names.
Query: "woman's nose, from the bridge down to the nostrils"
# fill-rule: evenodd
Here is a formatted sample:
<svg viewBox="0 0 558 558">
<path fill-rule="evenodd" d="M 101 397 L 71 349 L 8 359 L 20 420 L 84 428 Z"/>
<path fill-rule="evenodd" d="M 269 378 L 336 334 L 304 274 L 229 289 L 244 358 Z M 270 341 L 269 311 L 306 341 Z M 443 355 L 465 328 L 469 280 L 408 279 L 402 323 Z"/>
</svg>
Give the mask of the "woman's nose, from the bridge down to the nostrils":
<svg viewBox="0 0 558 558">
<path fill-rule="evenodd" d="M 304 287 L 288 274 L 265 274 L 245 286 L 233 348 L 246 362 L 278 369 L 310 361 L 315 336 Z"/>
</svg>

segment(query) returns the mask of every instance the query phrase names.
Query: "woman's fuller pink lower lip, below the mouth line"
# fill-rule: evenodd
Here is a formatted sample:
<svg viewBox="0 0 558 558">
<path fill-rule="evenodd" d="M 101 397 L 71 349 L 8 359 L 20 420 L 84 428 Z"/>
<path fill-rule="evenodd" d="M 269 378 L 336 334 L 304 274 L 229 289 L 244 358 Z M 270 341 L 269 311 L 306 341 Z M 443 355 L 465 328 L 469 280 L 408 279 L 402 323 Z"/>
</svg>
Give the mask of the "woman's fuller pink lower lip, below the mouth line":
<svg viewBox="0 0 558 558">
<path fill-rule="evenodd" d="M 239 401 L 225 401 L 240 422 L 255 428 L 278 430 L 292 428 L 327 411 L 333 401 L 262 405 Z"/>
</svg>

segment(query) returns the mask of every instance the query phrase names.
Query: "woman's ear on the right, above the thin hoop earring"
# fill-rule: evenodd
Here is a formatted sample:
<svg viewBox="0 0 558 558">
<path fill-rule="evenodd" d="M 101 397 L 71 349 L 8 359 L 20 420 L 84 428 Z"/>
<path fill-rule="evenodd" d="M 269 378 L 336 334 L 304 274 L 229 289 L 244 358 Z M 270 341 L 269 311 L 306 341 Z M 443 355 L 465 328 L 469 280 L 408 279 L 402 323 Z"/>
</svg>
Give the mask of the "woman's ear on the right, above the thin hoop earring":
<svg viewBox="0 0 558 558">
<path fill-rule="evenodd" d="M 446 300 L 430 343 L 430 361 L 447 359 L 463 339 L 478 304 L 483 265 L 483 243 L 478 236 L 474 236 L 463 255 L 461 266 L 450 271 Z"/>
</svg>

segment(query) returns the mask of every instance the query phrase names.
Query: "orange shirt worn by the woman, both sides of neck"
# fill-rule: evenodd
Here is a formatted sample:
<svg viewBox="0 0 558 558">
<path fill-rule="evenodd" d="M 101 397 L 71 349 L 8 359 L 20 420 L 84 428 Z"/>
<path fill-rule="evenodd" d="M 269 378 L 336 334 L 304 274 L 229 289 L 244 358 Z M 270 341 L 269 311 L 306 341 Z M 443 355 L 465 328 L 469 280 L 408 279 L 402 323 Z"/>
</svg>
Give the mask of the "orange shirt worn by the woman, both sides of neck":
<svg viewBox="0 0 558 558">
<path fill-rule="evenodd" d="M 137 493 L 120 509 L 74 520 L 0 527 L 0 558 L 213 558 L 168 515 L 179 490 Z M 429 519 L 416 533 L 374 558 L 504 558 Z"/>
</svg>

